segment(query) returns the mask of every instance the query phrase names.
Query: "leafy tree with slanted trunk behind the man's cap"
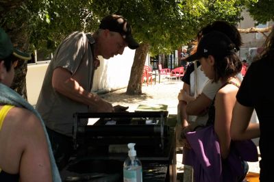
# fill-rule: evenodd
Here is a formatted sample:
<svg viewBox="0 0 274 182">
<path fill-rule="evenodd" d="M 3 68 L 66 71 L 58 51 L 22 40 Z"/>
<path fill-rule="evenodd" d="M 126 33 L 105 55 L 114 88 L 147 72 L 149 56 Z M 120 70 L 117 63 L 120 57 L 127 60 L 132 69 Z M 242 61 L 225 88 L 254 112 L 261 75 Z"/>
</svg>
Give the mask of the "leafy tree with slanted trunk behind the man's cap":
<svg viewBox="0 0 274 182">
<path fill-rule="evenodd" d="M 240 21 L 240 1 L 198 0 L 94 0 L 93 12 L 101 17 L 118 13 L 132 24 L 134 37 L 141 42 L 141 50 L 172 53 L 195 38 L 197 31 L 214 20 L 231 23 Z M 147 46 L 149 49 L 147 49 Z M 136 51 L 140 53 L 140 51 Z M 141 55 L 146 55 L 147 52 Z M 141 75 L 145 60 L 135 55 L 127 94 L 140 94 Z M 145 58 L 144 58 L 145 59 Z"/>
</svg>

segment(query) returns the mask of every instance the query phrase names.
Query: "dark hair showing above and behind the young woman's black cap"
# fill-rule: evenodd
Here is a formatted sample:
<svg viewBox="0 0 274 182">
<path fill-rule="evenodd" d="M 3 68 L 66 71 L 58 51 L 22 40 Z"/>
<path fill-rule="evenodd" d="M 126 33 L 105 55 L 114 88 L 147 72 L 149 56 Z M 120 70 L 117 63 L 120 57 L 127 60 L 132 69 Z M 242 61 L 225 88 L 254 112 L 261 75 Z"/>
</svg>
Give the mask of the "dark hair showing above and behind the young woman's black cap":
<svg viewBox="0 0 274 182">
<path fill-rule="evenodd" d="M 206 35 L 211 31 L 221 31 L 223 34 L 229 37 L 230 40 L 232 40 L 236 46 L 236 49 L 238 51 L 240 50 L 240 46 L 242 45 L 242 38 L 240 36 L 240 32 L 234 25 L 227 23 L 226 21 L 214 21 L 212 24 L 206 25 L 206 27 L 203 27 L 199 31 L 197 34 L 198 40 L 201 38 L 201 36 Z"/>
</svg>

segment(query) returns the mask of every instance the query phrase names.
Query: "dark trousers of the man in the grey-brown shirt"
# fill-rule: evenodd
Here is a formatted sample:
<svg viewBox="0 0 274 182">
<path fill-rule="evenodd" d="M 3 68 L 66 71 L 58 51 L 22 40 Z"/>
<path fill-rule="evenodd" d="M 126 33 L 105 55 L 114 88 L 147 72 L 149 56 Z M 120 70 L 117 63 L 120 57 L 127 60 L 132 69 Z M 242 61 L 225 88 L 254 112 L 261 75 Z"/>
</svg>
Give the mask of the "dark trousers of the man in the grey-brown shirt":
<svg viewBox="0 0 274 182">
<path fill-rule="evenodd" d="M 49 128 L 47 128 L 47 133 L 51 142 L 55 162 L 60 171 L 69 163 L 69 158 L 73 154 L 73 138 Z"/>
</svg>

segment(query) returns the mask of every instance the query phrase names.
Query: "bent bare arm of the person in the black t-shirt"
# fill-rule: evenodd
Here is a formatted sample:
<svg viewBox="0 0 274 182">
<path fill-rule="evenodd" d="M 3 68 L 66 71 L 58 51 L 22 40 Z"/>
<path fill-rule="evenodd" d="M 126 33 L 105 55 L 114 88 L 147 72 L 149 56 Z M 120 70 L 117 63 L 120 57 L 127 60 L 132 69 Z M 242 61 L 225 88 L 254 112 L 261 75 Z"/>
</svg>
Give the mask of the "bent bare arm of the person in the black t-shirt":
<svg viewBox="0 0 274 182">
<path fill-rule="evenodd" d="M 249 122 L 252 113 L 253 107 L 246 107 L 236 101 L 230 128 L 230 134 L 233 140 L 247 140 L 260 137 L 260 124 Z"/>
</svg>

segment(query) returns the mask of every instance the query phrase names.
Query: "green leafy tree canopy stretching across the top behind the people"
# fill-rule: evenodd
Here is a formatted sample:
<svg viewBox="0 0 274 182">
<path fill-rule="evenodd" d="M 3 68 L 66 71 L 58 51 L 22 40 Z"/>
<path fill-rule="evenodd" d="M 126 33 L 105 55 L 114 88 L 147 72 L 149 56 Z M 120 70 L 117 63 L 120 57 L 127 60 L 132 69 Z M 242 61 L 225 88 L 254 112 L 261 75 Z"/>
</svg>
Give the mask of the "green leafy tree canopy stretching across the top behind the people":
<svg viewBox="0 0 274 182">
<path fill-rule="evenodd" d="M 154 54 L 171 53 L 195 38 L 197 31 L 212 21 L 240 21 L 243 2 L 245 1 L 5 0 L 0 2 L 0 25 L 14 31 L 16 38 L 22 38 L 13 42 L 21 42 L 24 46 L 19 47 L 24 47 L 23 50 L 43 49 L 52 52 L 72 31 L 95 31 L 103 16 L 122 14 L 132 24 L 134 37 L 145 46 L 142 50 Z M 23 36 L 18 36 L 21 35 L 19 32 Z M 137 58 L 134 62 L 140 62 Z M 136 68 L 142 69 L 143 64 L 145 60 L 136 63 Z M 23 68 L 26 65 L 23 65 L 22 70 Z M 132 70 L 132 73 L 139 72 Z M 138 79 L 130 83 L 135 86 L 132 89 L 141 88 L 138 86 Z"/>
</svg>

